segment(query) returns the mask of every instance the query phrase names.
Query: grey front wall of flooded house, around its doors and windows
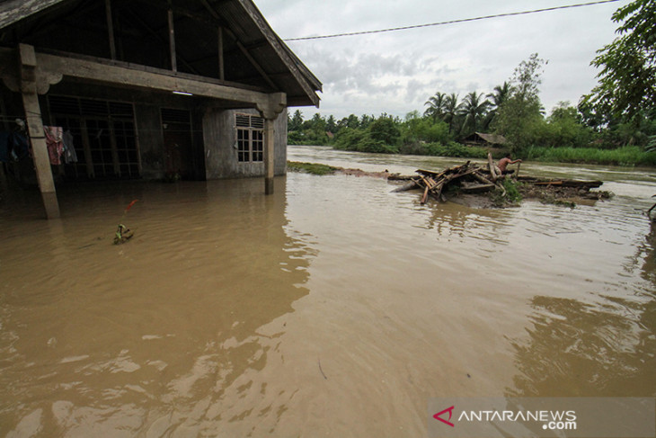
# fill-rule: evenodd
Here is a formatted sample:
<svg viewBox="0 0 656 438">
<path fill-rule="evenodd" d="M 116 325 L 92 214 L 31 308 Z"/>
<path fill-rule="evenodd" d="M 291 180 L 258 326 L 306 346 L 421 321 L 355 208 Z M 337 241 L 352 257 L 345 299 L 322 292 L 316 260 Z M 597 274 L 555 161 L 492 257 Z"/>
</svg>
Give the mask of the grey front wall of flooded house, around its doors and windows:
<svg viewBox="0 0 656 438">
<path fill-rule="evenodd" d="M 2 88 L 3 112 L 22 114 L 20 94 Z M 49 94 L 131 103 L 134 108 L 134 122 L 137 131 L 139 176 L 143 179 L 162 179 L 167 173 L 162 108 L 178 108 L 191 113 L 191 173 L 188 174 L 191 179 L 263 177 L 265 174 L 263 162 L 243 163 L 237 160 L 235 114 L 259 115 L 253 109 L 208 110 L 206 108 L 209 102 L 204 100 L 124 90 L 111 86 L 73 84 L 66 83 L 66 81 L 51 86 Z M 40 104 L 44 122 L 54 123 L 53 116 L 49 113 L 48 96 L 40 96 Z M 281 112 L 274 122 L 274 132 L 274 174 L 281 175 L 285 174 L 287 170 L 287 109 Z M 83 141 L 75 140 L 76 148 L 82 148 L 82 144 Z M 26 160 L 25 172 L 20 172 L 19 168 L 16 169 L 15 173 L 20 174 L 24 183 L 34 182 L 31 167 L 31 160 Z M 59 168 L 53 168 L 53 174 L 58 180 L 87 179 L 84 170 L 77 174 L 70 170 L 67 165 L 66 169 L 62 165 Z"/>
</svg>

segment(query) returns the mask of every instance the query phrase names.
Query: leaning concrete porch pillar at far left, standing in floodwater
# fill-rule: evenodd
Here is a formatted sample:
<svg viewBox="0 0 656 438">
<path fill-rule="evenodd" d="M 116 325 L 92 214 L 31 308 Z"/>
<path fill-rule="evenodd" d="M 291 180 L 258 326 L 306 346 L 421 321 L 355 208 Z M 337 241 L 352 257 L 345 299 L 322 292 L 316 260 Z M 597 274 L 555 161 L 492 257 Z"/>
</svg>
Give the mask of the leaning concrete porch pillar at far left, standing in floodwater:
<svg viewBox="0 0 656 438">
<path fill-rule="evenodd" d="M 37 94 L 37 59 L 32 46 L 20 44 L 19 52 L 21 58 L 22 106 L 25 110 L 34 168 L 36 169 L 46 215 L 48 219 L 57 219 L 59 217 L 59 204 L 57 192 L 55 191 L 55 182 L 52 178 L 46 136 L 43 132 L 43 121 L 41 121 L 39 95 Z"/>
</svg>

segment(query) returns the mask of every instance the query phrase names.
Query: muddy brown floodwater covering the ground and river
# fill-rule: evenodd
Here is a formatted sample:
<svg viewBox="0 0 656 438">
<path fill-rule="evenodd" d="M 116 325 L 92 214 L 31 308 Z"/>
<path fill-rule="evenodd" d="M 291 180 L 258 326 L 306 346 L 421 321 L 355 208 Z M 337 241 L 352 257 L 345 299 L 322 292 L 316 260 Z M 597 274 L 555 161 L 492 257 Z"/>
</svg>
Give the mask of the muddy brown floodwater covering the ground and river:
<svg viewBox="0 0 656 438">
<path fill-rule="evenodd" d="M 47 221 L 38 192 L 4 192 L 0 435 L 414 437 L 429 398 L 656 396 L 656 172 L 521 171 L 616 196 L 473 210 L 290 173 L 271 196 L 262 179 L 62 187 Z M 134 237 L 114 246 L 119 222 Z"/>
</svg>

